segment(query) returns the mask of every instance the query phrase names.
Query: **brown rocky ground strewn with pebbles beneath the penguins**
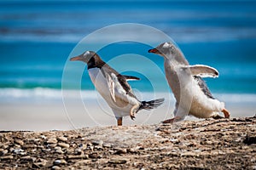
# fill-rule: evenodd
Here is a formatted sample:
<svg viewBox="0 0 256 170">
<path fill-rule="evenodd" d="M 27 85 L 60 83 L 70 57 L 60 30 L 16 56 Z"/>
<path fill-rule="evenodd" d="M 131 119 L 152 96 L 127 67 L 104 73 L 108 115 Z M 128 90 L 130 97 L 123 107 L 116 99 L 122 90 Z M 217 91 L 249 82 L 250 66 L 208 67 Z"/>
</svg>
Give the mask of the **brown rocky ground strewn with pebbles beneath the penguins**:
<svg viewBox="0 0 256 170">
<path fill-rule="evenodd" d="M 1 132 L 0 169 L 256 169 L 256 117 Z"/>
</svg>

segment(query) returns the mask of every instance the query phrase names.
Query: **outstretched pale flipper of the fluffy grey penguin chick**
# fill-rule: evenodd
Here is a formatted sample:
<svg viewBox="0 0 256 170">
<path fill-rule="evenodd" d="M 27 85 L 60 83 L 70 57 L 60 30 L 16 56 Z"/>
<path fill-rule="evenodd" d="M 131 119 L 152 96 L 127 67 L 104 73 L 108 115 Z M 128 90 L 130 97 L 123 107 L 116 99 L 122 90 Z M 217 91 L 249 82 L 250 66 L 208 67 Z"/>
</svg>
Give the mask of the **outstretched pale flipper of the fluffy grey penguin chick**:
<svg viewBox="0 0 256 170">
<path fill-rule="evenodd" d="M 183 69 L 189 69 L 192 76 L 197 77 L 218 77 L 218 71 L 207 65 L 185 65 Z"/>
</svg>

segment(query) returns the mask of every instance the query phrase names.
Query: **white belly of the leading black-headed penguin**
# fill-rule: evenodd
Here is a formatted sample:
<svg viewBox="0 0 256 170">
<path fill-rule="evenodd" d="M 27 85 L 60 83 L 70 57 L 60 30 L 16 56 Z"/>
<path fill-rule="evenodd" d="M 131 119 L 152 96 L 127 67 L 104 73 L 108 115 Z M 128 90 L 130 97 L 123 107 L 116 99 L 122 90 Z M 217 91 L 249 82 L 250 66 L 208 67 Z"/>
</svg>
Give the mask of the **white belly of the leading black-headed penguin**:
<svg viewBox="0 0 256 170">
<path fill-rule="evenodd" d="M 110 90 L 108 88 L 107 79 L 103 76 L 102 71 L 99 68 L 89 69 L 90 79 L 95 85 L 97 91 L 102 95 L 102 98 L 106 100 L 108 105 L 114 110 L 115 116 L 129 116 L 133 105 L 137 105 L 139 101 L 127 95 L 125 90 L 121 88 L 119 82 L 115 82 L 113 101 Z M 118 115 L 116 115 L 118 114 Z"/>
</svg>

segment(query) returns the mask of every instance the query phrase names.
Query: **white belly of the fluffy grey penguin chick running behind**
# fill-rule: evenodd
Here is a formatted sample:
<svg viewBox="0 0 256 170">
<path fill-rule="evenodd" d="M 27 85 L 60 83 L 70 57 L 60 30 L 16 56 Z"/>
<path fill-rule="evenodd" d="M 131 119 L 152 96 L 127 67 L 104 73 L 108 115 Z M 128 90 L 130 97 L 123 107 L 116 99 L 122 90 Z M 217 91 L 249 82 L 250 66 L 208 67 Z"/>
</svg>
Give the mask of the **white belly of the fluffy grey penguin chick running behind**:
<svg viewBox="0 0 256 170">
<path fill-rule="evenodd" d="M 208 118 L 216 115 L 216 112 L 224 109 L 224 103 L 217 99 L 208 98 L 198 85 L 198 82 L 183 70 L 173 67 L 165 62 L 166 79 L 177 99 L 176 116 L 190 114 L 200 118 Z M 185 112 L 185 113 L 184 113 Z"/>
</svg>

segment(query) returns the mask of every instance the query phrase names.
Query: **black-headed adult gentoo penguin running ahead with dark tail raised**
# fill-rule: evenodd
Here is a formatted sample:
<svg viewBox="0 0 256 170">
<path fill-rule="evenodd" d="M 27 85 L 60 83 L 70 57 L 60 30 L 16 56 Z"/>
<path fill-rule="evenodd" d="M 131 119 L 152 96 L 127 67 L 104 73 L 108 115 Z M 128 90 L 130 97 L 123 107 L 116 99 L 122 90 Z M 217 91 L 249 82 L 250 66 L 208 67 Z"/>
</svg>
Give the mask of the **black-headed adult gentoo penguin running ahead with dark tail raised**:
<svg viewBox="0 0 256 170">
<path fill-rule="evenodd" d="M 164 102 L 164 99 L 151 101 L 137 99 L 127 81 L 139 80 L 139 78 L 119 74 L 93 51 L 86 51 L 70 60 L 79 60 L 87 63 L 90 79 L 112 109 L 118 126 L 122 125 L 123 116 L 131 116 L 133 120 L 138 111 L 154 109 Z"/>
</svg>

